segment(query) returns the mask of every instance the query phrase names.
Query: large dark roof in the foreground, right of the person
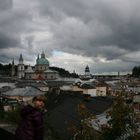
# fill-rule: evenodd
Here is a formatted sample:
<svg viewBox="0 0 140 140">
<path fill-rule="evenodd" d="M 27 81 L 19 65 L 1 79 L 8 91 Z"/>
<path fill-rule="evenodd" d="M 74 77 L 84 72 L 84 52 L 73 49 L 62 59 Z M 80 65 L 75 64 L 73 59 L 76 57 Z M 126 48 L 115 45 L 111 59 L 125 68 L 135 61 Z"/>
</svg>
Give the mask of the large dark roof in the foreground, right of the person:
<svg viewBox="0 0 140 140">
<path fill-rule="evenodd" d="M 59 135 L 64 137 L 64 140 L 69 140 L 71 134 L 68 128 L 72 125 L 80 126 L 80 116 L 76 111 L 77 105 L 84 102 L 87 108 L 95 115 L 103 113 L 111 107 L 112 99 L 105 97 L 95 97 L 86 101 L 83 95 L 76 94 L 51 94 L 47 98 L 45 121 Z"/>
</svg>

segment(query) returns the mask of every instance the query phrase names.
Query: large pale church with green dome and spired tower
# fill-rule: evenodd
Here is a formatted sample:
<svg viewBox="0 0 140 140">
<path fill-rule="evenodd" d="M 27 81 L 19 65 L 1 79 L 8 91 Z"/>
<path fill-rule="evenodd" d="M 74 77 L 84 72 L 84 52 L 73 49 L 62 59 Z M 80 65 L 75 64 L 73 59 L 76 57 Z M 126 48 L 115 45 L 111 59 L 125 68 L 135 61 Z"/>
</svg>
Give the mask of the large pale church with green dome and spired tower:
<svg viewBox="0 0 140 140">
<path fill-rule="evenodd" d="M 12 64 L 12 75 L 14 75 L 14 62 Z M 57 71 L 49 69 L 49 61 L 46 59 L 44 52 L 41 56 L 38 55 L 35 66 L 25 65 L 22 54 L 20 54 L 17 75 L 20 79 L 29 80 L 55 80 L 59 77 Z"/>
</svg>

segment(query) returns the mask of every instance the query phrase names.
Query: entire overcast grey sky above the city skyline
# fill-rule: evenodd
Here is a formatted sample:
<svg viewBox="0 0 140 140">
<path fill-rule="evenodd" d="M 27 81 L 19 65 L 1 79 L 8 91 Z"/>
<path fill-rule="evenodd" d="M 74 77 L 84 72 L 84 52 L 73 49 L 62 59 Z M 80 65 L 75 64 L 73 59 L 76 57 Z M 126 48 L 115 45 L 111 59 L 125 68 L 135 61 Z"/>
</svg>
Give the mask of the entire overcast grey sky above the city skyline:
<svg viewBox="0 0 140 140">
<path fill-rule="evenodd" d="M 140 65 L 140 0 L 0 0 L 0 63 L 50 66 L 79 74 L 130 72 Z"/>
</svg>

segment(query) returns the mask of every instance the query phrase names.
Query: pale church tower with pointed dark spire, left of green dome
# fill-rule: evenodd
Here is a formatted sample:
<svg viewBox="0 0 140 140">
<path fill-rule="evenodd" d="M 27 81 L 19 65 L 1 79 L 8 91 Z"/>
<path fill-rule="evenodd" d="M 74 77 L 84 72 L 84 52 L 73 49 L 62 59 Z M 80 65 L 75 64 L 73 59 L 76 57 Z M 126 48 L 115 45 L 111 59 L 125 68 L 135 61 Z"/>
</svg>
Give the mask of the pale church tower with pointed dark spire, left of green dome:
<svg viewBox="0 0 140 140">
<path fill-rule="evenodd" d="M 24 78 L 24 77 L 25 77 L 25 66 L 23 63 L 22 54 L 20 54 L 19 64 L 18 64 L 18 78 Z"/>
</svg>

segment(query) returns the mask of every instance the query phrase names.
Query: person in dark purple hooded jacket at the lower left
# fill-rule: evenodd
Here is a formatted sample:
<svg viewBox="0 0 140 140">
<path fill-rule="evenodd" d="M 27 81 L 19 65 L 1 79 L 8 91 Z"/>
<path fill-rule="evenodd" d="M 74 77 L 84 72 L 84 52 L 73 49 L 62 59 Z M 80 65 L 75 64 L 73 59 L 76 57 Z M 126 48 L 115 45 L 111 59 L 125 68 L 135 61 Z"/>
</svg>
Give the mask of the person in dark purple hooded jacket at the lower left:
<svg viewBox="0 0 140 140">
<path fill-rule="evenodd" d="M 21 109 L 21 122 L 16 132 L 15 140 L 43 140 L 43 109 L 46 97 L 35 96 L 32 104 Z"/>
</svg>

